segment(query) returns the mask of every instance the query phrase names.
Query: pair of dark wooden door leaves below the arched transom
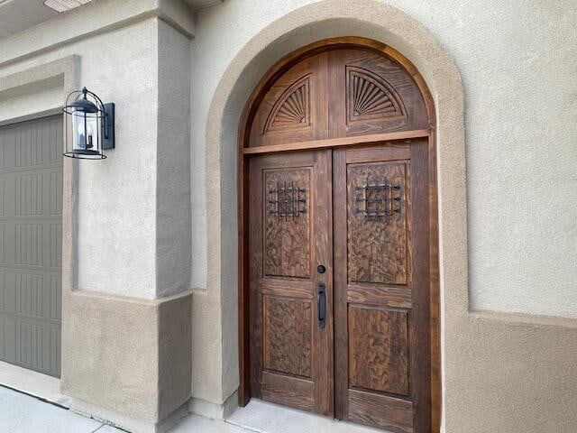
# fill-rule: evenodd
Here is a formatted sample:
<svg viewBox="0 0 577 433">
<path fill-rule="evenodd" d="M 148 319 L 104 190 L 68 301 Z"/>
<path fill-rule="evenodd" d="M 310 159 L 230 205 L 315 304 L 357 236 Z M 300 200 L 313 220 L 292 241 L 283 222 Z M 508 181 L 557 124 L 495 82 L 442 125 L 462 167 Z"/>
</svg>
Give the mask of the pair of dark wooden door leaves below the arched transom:
<svg viewBox="0 0 577 433">
<path fill-rule="evenodd" d="M 250 160 L 253 396 L 430 430 L 426 152 Z"/>
</svg>

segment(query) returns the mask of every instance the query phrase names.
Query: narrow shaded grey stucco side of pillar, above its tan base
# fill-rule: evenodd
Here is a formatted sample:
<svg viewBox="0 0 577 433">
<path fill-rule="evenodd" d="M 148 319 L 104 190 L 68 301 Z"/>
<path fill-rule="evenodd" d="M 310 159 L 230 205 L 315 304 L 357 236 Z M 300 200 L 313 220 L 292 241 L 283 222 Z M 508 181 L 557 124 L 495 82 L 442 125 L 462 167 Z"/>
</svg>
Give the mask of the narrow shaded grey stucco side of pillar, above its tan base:
<svg viewBox="0 0 577 433">
<path fill-rule="evenodd" d="M 190 288 L 190 47 L 159 22 L 156 181 L 157 296 Z"/>
</svg>

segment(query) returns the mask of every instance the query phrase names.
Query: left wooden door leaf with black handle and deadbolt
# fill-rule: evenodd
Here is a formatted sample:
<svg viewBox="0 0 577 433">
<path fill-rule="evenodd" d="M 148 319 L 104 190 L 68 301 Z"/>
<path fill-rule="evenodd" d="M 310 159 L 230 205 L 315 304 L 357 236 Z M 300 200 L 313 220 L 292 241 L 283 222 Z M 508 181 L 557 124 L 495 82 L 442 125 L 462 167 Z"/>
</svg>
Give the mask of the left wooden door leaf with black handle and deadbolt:
<svg viewBox="0 0 577 433">
<path fill-rule="evenodd" d="M 332 415 L 331 151 L 253 158 L 249 171 L 252 395 Z"/>
</svg>

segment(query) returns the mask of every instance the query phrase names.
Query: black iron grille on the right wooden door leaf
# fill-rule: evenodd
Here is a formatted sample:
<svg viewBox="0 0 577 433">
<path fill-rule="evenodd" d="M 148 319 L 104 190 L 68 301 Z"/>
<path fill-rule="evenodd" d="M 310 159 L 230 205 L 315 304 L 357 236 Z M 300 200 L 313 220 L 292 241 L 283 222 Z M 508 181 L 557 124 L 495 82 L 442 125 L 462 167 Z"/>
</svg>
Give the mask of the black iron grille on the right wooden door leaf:
<svg viewBox="0 0 577 433">
<path fill-rule="evenodd" d="M 364 217 L 391 217 L 401 212 L 401 185 L 392 185 L 385 177 L 382 182 L 370 182 L 355 187 L 354 213 Z"/>
</svg>

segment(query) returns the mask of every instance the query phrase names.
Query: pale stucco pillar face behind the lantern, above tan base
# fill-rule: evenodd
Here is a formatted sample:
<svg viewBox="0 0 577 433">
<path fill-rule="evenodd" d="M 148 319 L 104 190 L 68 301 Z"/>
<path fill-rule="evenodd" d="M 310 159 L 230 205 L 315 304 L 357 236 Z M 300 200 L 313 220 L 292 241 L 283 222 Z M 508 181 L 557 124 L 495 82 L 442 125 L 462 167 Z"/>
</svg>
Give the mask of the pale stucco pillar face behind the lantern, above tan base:
<svg viewBox="0 0 577 433">
<path fill-rule="evenodd" d="M 78 164 L 81 290 L 156 296 L 157 41 L 151 19 L 67 47 L 82 53 L 80 82 L 115 104 L 116 148 L 105 163 Z M 95 44 L 107 50 L 91 50 Z M 130 67 L 119 68 L 127 58 Z"/>
</svg>

